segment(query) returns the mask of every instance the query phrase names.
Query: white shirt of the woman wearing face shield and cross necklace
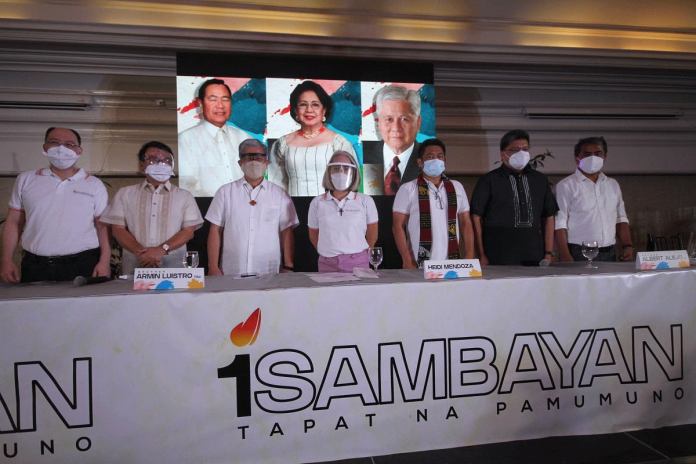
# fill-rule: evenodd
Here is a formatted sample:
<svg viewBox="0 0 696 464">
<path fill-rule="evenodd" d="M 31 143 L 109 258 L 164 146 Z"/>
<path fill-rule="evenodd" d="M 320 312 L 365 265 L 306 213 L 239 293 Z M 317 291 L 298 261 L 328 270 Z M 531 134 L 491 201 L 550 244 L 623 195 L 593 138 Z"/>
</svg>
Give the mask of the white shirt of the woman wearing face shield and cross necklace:
<svg viewBox="0 0 696 464">
<path fill-rule="evenodd" d="M 333 258 L 369 248 L 365 238 L 367 226 L 377 220 L 377 207 L 371 196 L 351 192 L 339 201 L 326 192 L 314 197 L 309 205 L 307 225 L 319 230 L 319 254 Z"/>
</svg>

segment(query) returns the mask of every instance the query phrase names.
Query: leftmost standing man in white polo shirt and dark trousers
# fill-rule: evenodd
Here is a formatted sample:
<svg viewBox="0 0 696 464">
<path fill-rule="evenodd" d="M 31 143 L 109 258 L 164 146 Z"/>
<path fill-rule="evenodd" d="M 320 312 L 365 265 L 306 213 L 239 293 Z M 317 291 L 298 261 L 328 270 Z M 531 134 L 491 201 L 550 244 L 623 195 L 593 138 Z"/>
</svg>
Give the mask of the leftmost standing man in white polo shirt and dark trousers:
<svg viewBox="0 0 696 464">
<path fill-rule="evenodd" d="M 43 153 L 51 165 L 17 177 L 2 233 L 0 280 L 19 282 L 12 262 L 20 237 L 22 282 L 108 277 L 108 230 L 97 219 L 108 195 L 102 182 L 75 167 L 80 135 L 63 127 L 46 131 Z"/>
</svg>

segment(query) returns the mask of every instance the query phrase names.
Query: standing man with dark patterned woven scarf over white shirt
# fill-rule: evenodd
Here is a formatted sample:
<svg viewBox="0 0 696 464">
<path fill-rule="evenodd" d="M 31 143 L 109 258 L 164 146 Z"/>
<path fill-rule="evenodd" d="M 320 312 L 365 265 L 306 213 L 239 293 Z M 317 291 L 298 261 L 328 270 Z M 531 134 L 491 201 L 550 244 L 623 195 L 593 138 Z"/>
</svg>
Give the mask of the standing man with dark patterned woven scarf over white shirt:
<svg viewBox="0 0 696 464">
<path fill-rule="evenodd" d="M 438 139 L 424 141 L 417 161 L 420 175 L 401 185 L 392 213 L 403 268 L 416 269 L 429 259 L 473 258 L 469 201 L 462 184 L 444 175 L 445 144 Z"/>
</svg>

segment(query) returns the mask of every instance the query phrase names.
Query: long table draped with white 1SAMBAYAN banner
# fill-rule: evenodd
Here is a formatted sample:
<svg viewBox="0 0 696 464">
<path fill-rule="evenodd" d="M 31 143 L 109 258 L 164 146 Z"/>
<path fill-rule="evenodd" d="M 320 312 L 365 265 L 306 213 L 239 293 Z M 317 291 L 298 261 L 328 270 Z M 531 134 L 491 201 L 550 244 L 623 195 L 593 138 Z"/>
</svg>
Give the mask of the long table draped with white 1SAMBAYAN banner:
<svg viewBox="0 0 696 464">
<path fill-rule="evenodd" d="M 696 422 L 696 270 L 0 285 L 12 462 L 293 463 Z"/>
</svg>

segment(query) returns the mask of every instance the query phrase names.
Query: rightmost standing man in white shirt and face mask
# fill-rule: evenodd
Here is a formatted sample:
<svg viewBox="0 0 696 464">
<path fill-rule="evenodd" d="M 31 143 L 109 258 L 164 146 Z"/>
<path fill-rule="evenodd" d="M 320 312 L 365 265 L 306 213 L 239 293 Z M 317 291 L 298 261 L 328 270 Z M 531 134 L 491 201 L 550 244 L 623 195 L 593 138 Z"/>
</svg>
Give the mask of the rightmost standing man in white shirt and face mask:
<svg viewBox="0 0 696 464">
<path fill-rule="evenodd" d="M 622 261 L 633 259 L 631 231 L 618 182 L 601 172 L 607 157 L 604 137 L 581 139 L 575 145 L 575 174 L 556 186 L 556 242 L 561 261 L 587 261 L 582 242 L 596 240 L 594 261 L 615 261 L 616 237 Z"/>
</svg>

